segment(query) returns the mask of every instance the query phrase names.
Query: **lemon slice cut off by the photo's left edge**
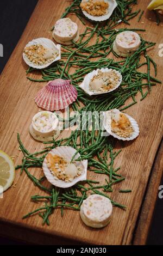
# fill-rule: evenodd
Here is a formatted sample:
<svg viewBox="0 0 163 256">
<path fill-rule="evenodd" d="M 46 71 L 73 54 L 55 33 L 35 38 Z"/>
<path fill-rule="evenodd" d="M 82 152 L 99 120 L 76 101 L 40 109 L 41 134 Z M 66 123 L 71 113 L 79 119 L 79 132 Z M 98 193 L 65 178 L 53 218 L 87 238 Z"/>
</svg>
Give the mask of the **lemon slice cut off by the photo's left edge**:
<svg viewBox="0 0 163 256">
<path fill-rule="evenodd" d="M 15 167 L 12 159 L 0 150 L 0 186 L 7 190 L 15 178 Z"/>
</svg>

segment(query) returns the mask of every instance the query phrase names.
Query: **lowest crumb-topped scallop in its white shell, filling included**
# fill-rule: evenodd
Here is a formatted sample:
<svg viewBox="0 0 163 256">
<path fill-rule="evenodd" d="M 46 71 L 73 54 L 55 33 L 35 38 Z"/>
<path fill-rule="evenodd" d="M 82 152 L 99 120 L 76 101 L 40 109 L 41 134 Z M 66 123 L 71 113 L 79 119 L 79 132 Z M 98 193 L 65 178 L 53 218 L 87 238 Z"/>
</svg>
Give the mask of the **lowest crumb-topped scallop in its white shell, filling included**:
<svg viewBox="0 0 163 256">
<path fill-rule="evenodd" d="M 80 154 L 72 157 L 77 153 L 77 150 L 61 146 L 52 149 L 45 157 L 42 168 L 49 182 L 57 187 L 71 187 L 79 181 L 86 180 L 87 175 L 87 160 L 76 161 Z"/>
</svg>

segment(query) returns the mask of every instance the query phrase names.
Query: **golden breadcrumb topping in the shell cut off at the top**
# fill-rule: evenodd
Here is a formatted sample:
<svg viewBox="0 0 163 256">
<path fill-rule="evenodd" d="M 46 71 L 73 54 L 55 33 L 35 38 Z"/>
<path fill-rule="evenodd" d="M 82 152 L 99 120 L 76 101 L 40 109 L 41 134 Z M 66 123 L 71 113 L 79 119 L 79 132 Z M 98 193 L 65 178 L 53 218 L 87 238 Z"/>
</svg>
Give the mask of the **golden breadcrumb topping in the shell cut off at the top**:
<svg viewBox="0 0 163 256">
<path fill-rule="evenodd" d="M 82 8 L 82 10 L 86 11 L 90 15 L 102 16 L 108 13 L 109 4 L 106 3 L 104 0 L 89 0 L 87 2 L 82 2 L 80 4 L 80 7 Z"/>
</svg>

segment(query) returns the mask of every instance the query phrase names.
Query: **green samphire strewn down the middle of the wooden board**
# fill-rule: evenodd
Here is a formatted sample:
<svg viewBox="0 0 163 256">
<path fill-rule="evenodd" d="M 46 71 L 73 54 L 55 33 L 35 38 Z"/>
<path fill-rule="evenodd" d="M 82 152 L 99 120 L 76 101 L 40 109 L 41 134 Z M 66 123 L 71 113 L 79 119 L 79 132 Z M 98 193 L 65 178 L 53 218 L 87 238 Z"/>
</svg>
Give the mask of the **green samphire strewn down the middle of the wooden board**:
<svg viewBox="0 0 163 256">
<path fill-rule="evenodd" d="M 133 28 L 118 28 L 114 29 L 119 24 L 119 21 L 129 24 L 129 20 L 137 16 L 140 10 L 132 12 L 133 4 L 137 1 L 118 0 L 118 7 L 115 9 L 111 19 L 100 25 L 95 23 L 95 26 L 85 27 L 85 32 L 80 34 L 78 42 L 73 42 L 71 46 L 62 46 L 62 59 L 50 67 L 41 70 L 42 78 L 35 80 L 27 77 L 31 81 L 47 82 L 56 78 L 70 79 L 72 84 L 78 90 L 77 101 L 72 104 L 72 109 L 82 114 L 83 111 L 103 112 L 112 108 L 119 108 L 120 110 L 127 109 L 133 106 L 136 101 L 136 94 L 141 93 L 141 100 L 150 92 L 152 86 L 156 83 L 161 83 L 156 77 L 151 75 L 152 67 L 157 73 L 156 64 L 154 60 L 147 54 L 147 50 L 153 47 L 153 42 L 147 42 L 141 39 L 141 46 L 132 56 L 127 58 L 116 59 L 116 53 L 112 50 L 112 44 L 118 33 L 126 30 L 137 31 L 138 33 L 143 29 Z M 70 7 L 68 7 L 62 17 L 66 17 L 70 13 L 75 13 L 80 21 L 85 24 L 85 17 L 79 7 L 80 1 L 74 0 Z M 141 13 L 142 16 L 142 13 Z M 141 16 L 139 19 L 141 19 Z M 91 39 L 95 39 L 95 43 L 91 44 Z M 110 53 L 114 54 L 113 58 L 109 58 Z M 142 61 L 142 56 L 145 60 Z M 96 58 L 96 59 L 95 59 Z M 121 72 L 123 81 L 118 90 L 105 94 L 102 96 L 88 96 L 79 88 L 79 83 L 83 81 L 83 77 L 97 68 L 112 68 Z M 146 72 L 141 71 L 141 67 L 147 67 Z M 73 68 L 73 70 L 72 70 Z M 74 71 L 75 69 L 75 71 Z M 33 72 L 33 68 L 27 70 L 27 74 Z M 126 101 L 130 99 L 131 102 L 124 106 Z M 83 107 L 80 107 L 80 103 Z M 84 122 L 87 124 L 86 117 Z M 77 122 L 76 117 L 71 117 L 69 120 L 72 123 Z M 61 119 L 66 127 L 66 119 Z M 82 123 L 80 124 L 82 125 Z M 32 196 L 34 202 L 44 202 L 45 205 L 29 212 L 23 218 L 27 218 L 36 212 L 43 219 L 43 224 L 49 225 L 49 216 L 53 211 L 60 208 L 61 215 L 64 214 L 64 209 L 79 210 L 82 202 L 87 197 L 87 192 L 102 194 L 110 198 L 110 194 L 116 189 L 116 184 L 122 182 L 125 178 L 118 171 L 120 167 L 115 167 L 115 159 L 121 150 L 115 151 L 115 141 L 110 137 L 103 137 L 101 130 L 96 131 L 96 117 L 92 119 L 92 127 L 87 126 L 86 130 L 77 129 L 71 132 L 71 136 L 57 141 L 45 143 L 46 148 L 40 152 L 29 153 L 24 148 L 20 136 L 17 136 L 20 149 L 23 153 L 22 164 L 18 165 L 16 169 L 21 169 L 21 173 L 26 173 L 35 186 L 45 191 L 45 196 L 36 194 Z M 45 176 L 37 179 L 30 174 L 30 168 L 41 168 L 42 162 L 47 153 L 60 145 L 69 145 L 77 149 L 80 153 L 79 161 L 83 159 L 88 160 L 88 172 L 94 172 L 98 175 L 103 175 L 103 184 L 99 184 L 97 180 L 86 180 L 79 182 L 77 185 L 69 189 L 58 189 L 57 187 L 46 187 L 43 185 Z M 120 185 L 119 185 L 120 186 Z M 118 187 L 118 192 L 129 193 L 131 190 Z M 126 206 L 115 202 L 112 198 L 111 202 L 114 206 L 125 209 Z"/>
</svg>

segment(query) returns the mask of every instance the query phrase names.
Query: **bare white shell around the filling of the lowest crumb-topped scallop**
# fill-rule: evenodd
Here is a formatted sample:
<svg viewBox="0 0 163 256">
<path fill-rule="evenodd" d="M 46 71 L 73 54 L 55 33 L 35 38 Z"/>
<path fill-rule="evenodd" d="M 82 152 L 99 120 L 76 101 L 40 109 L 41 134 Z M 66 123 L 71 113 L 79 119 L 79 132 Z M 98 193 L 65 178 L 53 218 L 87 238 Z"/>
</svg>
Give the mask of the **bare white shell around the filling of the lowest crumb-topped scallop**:
<svg viewBox="0 0 163 256">
<path fill-rule="evenodd" d="M 66 159 L 66 161 L 71 162 L 72 157 L 74 156 L 74 154 L 76 153 L 76 149 L 72 148 L 72 147 L 68 147 L 68 146 L 61 146 L 61 147 L 57 147 L 55 149 L 52 149 L 49 153 L 51 153 L 52 155 L 58 155 L 63 157 L 64 159 Z M 78 159 L 78 157 L 80 157 L 80 154 L 78 153 L 75 157 L 74 160 Z M 70 182 L 66 182 L 64 180 L 59 180 L 57 178 L 54 177 L 54 175 L 51 173 L 51 171 L 49 170 L 49 168 L 47 167 L 47 160 L 46 157 L 43 161 L 42 164 L 42 168 L 43 168 L 43 172 L 47 178 L 47 180 L 49 182 L 51 182 L 51 184 L 53 184 L 54 186 L 57 187 L 62 187 L 62 188 L 66 188 L 66 187 L 71 187 L 74 184 L 76 184 L 79 181 L 82 180 L 86 180 L 86 175 L 87 175 L 87 160 L 83 160 L 83 161 L 78 161 L 76 162 L 77 166 L 81 167 L 83 172 L 80 176 L 74 178 L 72 181 Z"/>
</svg>

